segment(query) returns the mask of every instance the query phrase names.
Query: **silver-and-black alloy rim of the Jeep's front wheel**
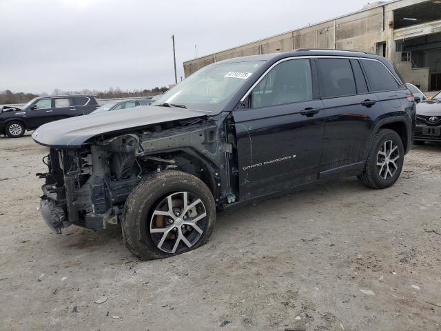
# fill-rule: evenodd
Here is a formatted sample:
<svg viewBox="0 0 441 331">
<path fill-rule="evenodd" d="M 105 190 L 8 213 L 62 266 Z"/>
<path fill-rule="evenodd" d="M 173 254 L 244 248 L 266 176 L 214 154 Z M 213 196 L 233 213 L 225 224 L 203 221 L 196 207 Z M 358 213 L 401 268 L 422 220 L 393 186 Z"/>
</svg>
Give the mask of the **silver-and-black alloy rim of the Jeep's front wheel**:
<svg viewBox="0 0 441 331">
<path fill-rule="evenodd" d="M 163 252 L 178 253 L 191 248 L 207 227 L 205 205 L 190 192 L 165 197 L 150 219 L 150 236 Z"/>
</svg>

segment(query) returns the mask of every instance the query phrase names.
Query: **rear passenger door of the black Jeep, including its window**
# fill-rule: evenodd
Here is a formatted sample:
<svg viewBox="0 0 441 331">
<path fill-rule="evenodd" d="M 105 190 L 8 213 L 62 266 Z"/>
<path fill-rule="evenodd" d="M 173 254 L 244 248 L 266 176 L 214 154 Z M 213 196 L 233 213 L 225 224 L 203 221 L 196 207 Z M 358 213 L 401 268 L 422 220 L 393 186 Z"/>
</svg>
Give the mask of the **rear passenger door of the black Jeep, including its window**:
<svg viewBox="0 0 441 331">
<path fill-rule="evenodd" d="M 373 119 L 382 112 L 378 97 L 369 92 L 358 59 L 316 59 L 326 121 L 320 177 L 365 164 Z"/>
</svg>

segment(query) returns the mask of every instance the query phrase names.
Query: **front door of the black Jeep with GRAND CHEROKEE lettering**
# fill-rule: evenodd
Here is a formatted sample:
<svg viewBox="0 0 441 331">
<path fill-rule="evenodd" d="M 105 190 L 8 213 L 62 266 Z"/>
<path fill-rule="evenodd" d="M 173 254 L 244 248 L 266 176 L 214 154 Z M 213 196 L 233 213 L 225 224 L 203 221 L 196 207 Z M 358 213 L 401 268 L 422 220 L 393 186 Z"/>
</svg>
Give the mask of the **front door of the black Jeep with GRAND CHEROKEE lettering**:
<svg viewBox="0 0 441 331">
<path fill-rule="evenodd" d="M 314 61 L 289 59 L 271 69 L 235 110 L 240 199 L 318 178 L 325 114 Z"/>
</svg>

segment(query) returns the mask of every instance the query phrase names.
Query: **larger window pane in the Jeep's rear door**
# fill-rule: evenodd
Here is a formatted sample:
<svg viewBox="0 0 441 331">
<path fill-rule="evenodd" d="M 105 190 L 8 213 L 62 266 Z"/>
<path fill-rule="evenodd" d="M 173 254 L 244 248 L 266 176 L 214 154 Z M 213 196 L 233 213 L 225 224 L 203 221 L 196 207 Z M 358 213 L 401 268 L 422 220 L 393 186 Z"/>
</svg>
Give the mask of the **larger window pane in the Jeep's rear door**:
<svg viewBox="0 0 441 331">
<path fill-rule="evenodd" d="M 319 59 L 318 68 L 322 97 L 342 97 L 357 93 L 349 59 Z"/>
</svg>

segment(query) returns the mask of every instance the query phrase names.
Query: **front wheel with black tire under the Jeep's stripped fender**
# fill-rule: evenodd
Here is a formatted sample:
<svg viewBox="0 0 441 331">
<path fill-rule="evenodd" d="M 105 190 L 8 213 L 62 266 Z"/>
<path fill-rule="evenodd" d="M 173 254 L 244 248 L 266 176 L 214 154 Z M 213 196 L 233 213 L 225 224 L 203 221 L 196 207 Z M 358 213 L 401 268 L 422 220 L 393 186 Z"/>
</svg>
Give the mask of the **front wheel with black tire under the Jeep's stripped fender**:
<svg viewBox="0 0 441 331">
<path fill-rule="evenodd" d="M 200 210 L 196 210 L 196 215 L 198 217 L 203 216 L 204 210 L 206 216 L 203 217 L 198 223 L 195 223 L 198 226 L 199 230 L 203 230 L 203 233 L 196 231 L 196 228 L 193 228 L 189 225 L 182 224 L 185 222 L 186 215 L 188 213 L 174 215 L 177 218 L 172 220 L 172 218 L 168 216 L 159 216 L 154 213 L 161 212 L 161 203 L 164 201 L 168 201 L 168 196 L 177 197 L 178 194 L 186 192 L 188 197 L 187 204 L 192 205 L 192 203 L 197 202 L 198 199 L 201 202 L 196 205 L 193 209 L 199 208 Z M 191 197 L 196 197 L 191 200 Z M 181 196 L 181 202 L 183 203 L 183 195 Z M 170 198 L 172 201 L 172 198 Z M 174 200 L 172 204 L 176 201 Z M 179 200 L 178 200 L 179 203 Z M 168 204 L 167 204 L 168 205 Z M 184 208 L 180 209 L 183 212 Z M 170 210 L 170 209 L 169 209 Z M 172 208 L 175 210 L 175 208 Z M 167 211 L 168 212 L 168 211 Z M 176 210 L 178 212 L 178 210 Z M 179 216 L 179 217 L 178 217 Z M 163 217 L 162 223 L 167 224 L 165 228 L 156 228 L 156 217 Z M 193 217 L 193 219 L 197 219 L 198 217 Z M 187 221 L 190 217 L 187 217 Z M 201 223 L 203 221 L 203 223 Z M 212 192 L 210 192 L 207 185 L 194 177 L 192 174 L 187 174 L 185 172 L 176 171 L 176 170 L 166 170 L 163 172 L 155 172 L 150 176 L 147 176 L 141 183 L 139 183 L 136 188 L 130 193 L 127 201 L 125 201 L 124 211 L 123 211 L 123 221 L 121 224 L 122 233 L 123 233 L 123 241 L 125 246 L 127 247 L 132 254 L 143 261 L 151 260 L 151 259 L 163 259 L 165 257 L 171 257 L 176 254 L 181 254 L 183 252 L 188 252 L 189 250 L 194 250 L 199 246 L 206 243 L 212 234 L 214 223 L 216 221 L 216 205 L 214 203 L 214 198 Z M 174 225 L 167 222 L 175 222 Z M 155 224 L 155 228 L 152 228 L 152 224 Z M 175 225 L 178 224 L 176 227 Z M 182 225 L 181 225 L 182 224 Z M 188 232 L 185 230 L 185 226 L 187 229 L 191 229 Z M 174 232 L 171 232 L 170 229 Z M 165 232 L 161 233 L 151 233 L 153 230 L 167 230 L 167 234 Z M 194 232 L 193 232 L 194 231 Z M 176 237 L 176 234 L 178 236 Z M 181 234 L 186 234 L 188 237 L 188 243 L 192 243 L 191 247 L 188 247 L 187 244 L 183 240 L 181 240 L 176 247 L 179 248 L 179 251 L 175 248 L 175 252 L 173 250 L 166 250 L 165 244 L 172 247 L 172 244 L 176 244 L 176 241 L 180 240 L 179 236 Z M 159 243 L 155 243 L 154 239 L 157 237 L 161 237 Z M 162 237 L 165 236 L 167 239 L 163 240 Z M 173 239 L 168 239 L 169 237 L 176 237 L 176 241 L 173 242 Z M 196 237 L 195 237 L 196 236 Z M 193 239 L 191 239 L 193 238 Z M 192 242 L 193 240 L 193 242 Z M 162 241 L 162 243 L 161 243 Z M 158 248 L 159 244 L 161 244 L 161 248 Z M 174 245 L 173 245 L 174 248 Z"/>
</svg>

